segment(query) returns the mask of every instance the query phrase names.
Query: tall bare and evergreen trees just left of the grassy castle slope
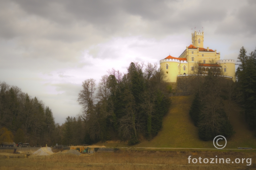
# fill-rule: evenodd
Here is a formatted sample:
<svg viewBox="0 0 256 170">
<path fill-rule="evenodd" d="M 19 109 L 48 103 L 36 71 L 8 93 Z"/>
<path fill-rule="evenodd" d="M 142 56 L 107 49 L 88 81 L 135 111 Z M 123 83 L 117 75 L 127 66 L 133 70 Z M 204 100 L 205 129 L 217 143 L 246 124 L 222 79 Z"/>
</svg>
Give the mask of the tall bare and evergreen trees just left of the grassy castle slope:
<svg viewBox="0 0 256 170">
<path fill-rule="evenodd" d="M 157 64 L 143 67 L 143 63 L 131 63 L 124 75 L 109 70 L 97 88 L 94 79 L 83 82 L 78 102 L 84 108 L 80 117 L 86 143 L 121 139 L 132 145 L 139 142 L 139 136 L 150 140 L 157 135 L 170 107 L 170 90 Z M 68 138 L 72 133 L 68 128 L 70 121 L 67 118 L 64 124 L 65 144 L 72 143 Z"/>
</svg>

